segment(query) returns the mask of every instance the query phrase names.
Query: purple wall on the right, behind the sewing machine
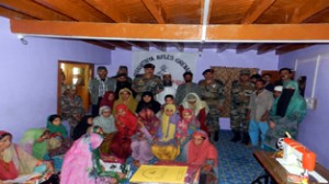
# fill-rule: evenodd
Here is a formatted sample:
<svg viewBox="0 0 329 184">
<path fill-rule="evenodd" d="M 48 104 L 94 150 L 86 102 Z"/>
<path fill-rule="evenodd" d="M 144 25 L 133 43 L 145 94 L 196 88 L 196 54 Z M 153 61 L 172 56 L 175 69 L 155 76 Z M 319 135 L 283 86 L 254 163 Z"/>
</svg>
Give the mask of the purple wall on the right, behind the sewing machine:
<svg viewBox="0 0 329 184">
<path fill-rule="evenodd" d="M 282 55 L 279 66 L 296 69 L 296 79 L 299 76 L 307 77 L 305 97 L 314 94 L 317 99 L 317 106 L 316 110 L 307 111 L 305 119 L 299 125 L 298 140 L 315 151 L 317 161 L 329 169 L 329 45 L 314 46 Z"/>
</svg>

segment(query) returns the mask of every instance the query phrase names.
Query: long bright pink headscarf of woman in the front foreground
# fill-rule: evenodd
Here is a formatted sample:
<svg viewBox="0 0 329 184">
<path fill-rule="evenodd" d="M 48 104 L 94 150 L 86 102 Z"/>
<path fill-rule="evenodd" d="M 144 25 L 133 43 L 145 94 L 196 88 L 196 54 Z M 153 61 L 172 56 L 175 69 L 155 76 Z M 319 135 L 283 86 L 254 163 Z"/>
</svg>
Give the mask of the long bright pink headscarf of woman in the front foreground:
<svg viewBox="0 0 329 184">
<path fill-rule="evenodd" d="M 92 150 L 97 149 L 103 138 L 94 133 L 82 136 L 76 140 L 64 158 L 60 183 L 94 184 Z"/>
</svg>

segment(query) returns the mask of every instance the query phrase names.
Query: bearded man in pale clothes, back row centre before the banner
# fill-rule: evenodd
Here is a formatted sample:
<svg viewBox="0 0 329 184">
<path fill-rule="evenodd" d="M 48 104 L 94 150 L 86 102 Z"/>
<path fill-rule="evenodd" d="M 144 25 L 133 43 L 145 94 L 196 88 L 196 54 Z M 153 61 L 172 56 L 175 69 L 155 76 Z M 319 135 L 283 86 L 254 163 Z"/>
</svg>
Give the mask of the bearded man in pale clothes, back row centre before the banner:
<svg viewBox="0 0 329 184">
<path fill-rule="evenodd" d="M 175 95 L 175 91 L 178 85 L 172 82 L 171 73 L 163 72 L 162 73 L 162 83 L 163 83 L 163 91 L 156 95 L 156 101 L 158 101 L 161 105 L 164 104 L 164 96 L 171 94 L 172 96 Z"/>
</svg>

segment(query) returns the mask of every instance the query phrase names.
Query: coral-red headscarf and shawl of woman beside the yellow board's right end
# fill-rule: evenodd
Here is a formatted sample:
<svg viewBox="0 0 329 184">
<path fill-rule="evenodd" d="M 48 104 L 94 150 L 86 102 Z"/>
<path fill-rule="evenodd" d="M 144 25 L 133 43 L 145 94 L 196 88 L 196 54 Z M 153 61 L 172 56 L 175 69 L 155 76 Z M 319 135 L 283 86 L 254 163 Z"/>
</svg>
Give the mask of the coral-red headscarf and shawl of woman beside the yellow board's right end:
<svg viewBox="0 0 329 184">
<path fill-rule="evenodd" d="M 194 164 L 205 164 L 207 159 L 214 160 L 214 166 L 217 168 L 217 150 L 216 148 L 209 142 L 208 135 L 203 130 L 197 130 L 192 134 L 192 138 L 194 136 L 202 136 L 204 141 L 196 146 L 193 143 L 193 140 L 188 142 L 188 163 Z"/>
</svg>

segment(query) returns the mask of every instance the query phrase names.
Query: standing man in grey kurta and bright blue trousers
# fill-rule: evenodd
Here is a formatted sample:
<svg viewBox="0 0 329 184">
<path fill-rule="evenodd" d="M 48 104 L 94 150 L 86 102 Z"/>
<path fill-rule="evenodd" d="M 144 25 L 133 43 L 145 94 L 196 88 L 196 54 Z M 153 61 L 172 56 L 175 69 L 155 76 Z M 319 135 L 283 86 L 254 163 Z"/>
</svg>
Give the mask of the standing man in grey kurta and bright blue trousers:
<svg viewBox="0 0 329 184">
<path fill-rule="evenodd" d="M 261 137 L 261 148 L 265 134 L 269 129 L 268 118 L 269 113 L 273 104 L 273 93 L 265 89 L 265 81 L 257 80 L 254 88 L 256 91 L 250 96 L 250 103 L 248 105 L 249 122 L 249 136 L 253 147 L 259 146 L 259 137 Z M 247 115 L 247 117 L 248 117 Z M 259 135 L 259 131 L 261 135 Z"/>
</svg>

